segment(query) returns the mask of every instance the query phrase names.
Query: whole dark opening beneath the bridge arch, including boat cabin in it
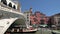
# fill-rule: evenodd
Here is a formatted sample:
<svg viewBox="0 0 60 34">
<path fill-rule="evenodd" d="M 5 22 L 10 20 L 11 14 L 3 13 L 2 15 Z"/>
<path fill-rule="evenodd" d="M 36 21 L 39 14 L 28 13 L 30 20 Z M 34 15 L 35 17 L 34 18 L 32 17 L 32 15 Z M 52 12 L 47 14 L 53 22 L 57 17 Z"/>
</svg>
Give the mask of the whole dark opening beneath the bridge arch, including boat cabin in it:
<svg viewBox="0 0 60 34">
<path fill-rule="evenodd" d="M 25 20 L 24 19 L 17 19 L 11 24 L 11 26 L 7 29 L 5 34 L 7 34 L 7 33 L 12 34 L 11 32 L 20 32 L 20 31 L 22 31 L 21 29 L 23 27 L 26 28 Z"/>
</svg>

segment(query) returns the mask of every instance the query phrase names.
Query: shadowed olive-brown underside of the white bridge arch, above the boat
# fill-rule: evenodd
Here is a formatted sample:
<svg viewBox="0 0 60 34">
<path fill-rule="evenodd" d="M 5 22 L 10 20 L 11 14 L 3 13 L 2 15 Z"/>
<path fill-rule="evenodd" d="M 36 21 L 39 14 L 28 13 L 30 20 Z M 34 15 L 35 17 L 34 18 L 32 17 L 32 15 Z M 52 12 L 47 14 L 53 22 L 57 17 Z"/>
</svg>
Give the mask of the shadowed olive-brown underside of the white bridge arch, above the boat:
<svg viewBox="0 0 60 34">
<path fill-rule="evenodd" d="M 7 31 L 10 31 L 12 30 L 13 27 L 20 27 L 20 25 L 24 25 L 26 27 L 26 18 L 22 17 L 22 18 L 15 18 L 13 21 L 12 21 L 12 24 L 8 27 L 8 29 L 5 31 L 5 33 Z M 10 30 L 9 30 L 10 29 Z"/>
</svg>

